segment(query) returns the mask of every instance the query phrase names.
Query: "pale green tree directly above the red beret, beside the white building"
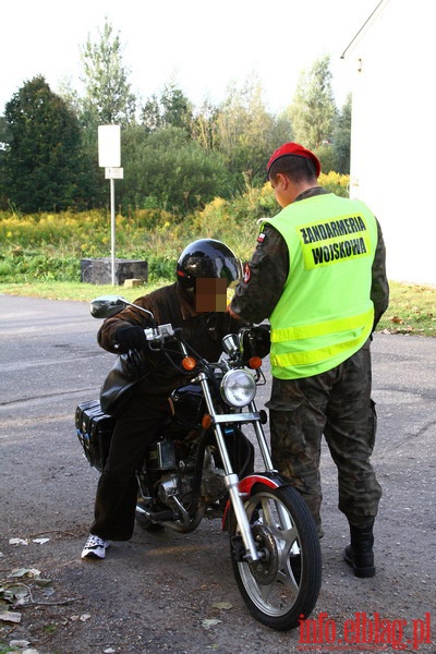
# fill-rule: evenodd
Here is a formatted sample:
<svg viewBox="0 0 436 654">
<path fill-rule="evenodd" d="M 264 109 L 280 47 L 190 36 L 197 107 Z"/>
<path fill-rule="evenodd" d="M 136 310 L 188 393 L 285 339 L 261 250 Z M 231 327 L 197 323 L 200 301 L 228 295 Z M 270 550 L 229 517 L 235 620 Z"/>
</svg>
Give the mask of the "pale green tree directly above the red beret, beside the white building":
<svg viewBox="0 0 436 654">
<path fill-rule="evenodd" d="M 329 66 L 326 56 L 317 59 L 308 73 L 303 71 L 289 109 L 295 141 L 311 149 L 331 140 L 336 106 Z"/>
</svg>

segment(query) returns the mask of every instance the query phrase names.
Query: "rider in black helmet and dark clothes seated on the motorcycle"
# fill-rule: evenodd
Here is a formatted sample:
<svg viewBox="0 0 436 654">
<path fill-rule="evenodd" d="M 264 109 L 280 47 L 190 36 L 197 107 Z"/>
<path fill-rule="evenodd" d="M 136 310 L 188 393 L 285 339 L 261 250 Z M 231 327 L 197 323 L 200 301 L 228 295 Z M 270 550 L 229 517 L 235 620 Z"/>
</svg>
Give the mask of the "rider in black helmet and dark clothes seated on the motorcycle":
<svg viewBox="0 0 436 654">
<path fill-rule="evenodd" d="M 135 300 L 153 313 L 158 325 L 181 328 L 184 339 L 203 358 L 217 361 L 221 339 L 238 331 L 241 320 L 226 312 L 226 290 L 241 277 L 241 263 L 220 241 L 202 239 L 190 243 L 177 264 L 177 281 Z M 138 382 L 124 396 L 117 412 L 110 451 L 97 485 L 94 522 L 82 558 L 105 558 L 108 541 L 129 541 L 135 521 L 137 483 L 147 444 L 160 422 L 169 416 L 168 396 L 184 377 L 177 365 L 182 354 L 150 352 L 144 328 L 150 318 L 128 307 L 107 318 L 98 331 L 98 343 L 117 354 L 132 352 Z"/>
</svg>

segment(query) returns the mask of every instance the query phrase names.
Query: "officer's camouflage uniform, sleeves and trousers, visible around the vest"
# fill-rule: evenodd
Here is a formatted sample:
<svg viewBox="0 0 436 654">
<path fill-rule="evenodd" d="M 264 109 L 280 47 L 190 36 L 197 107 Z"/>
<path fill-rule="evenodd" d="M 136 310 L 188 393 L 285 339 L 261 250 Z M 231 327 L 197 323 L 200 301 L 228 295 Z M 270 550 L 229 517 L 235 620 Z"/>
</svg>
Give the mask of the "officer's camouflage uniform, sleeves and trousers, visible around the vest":
<svg viewBox="0 0 436 654">
<path fill-rule="evenodd" d="M 317 186 L 302 193 L 295 202 L 322 193 L 326 191 Z M 389 298 L 385 244 L 378 222 L 377 230 L 371 290 L 374 327 L 386 311 Z M 266 225 L 250 264 L 244 267 L 244 280 L 235 290 L 231 310 L 253 323 L 268 318 L 280 300 L 289 265 L 283 238 Z M 353 524 L 365 523 L 377 513 L 382 488 L 370 463 L 376 431 L 371 383 L 370 341 L 325 373 L 300 379 L 272 378 L 267 403 L 272 461 L 279 472 L 292 477 L 320 534 L 323 434 L 338 468 L 339 509 Z"/>
</svg>

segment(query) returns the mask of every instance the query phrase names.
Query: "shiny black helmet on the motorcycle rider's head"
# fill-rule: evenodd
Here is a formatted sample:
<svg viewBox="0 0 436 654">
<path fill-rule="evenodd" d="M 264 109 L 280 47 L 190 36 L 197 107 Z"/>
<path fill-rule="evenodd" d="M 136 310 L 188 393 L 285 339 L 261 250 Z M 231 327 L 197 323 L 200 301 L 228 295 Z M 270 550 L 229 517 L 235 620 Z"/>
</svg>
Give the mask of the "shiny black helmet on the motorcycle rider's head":
<svg viewBox="0 0 436 654">
<path fill-rule="evenodd" d="M 183 250 L 177 265 L 177 277 L 187 290 L 195 287 L 197 277 L 225 277 L 229 287 L 242 277 L 242 266 L 230 247 L 221 241 L 199 239 Z"/>
</svg>

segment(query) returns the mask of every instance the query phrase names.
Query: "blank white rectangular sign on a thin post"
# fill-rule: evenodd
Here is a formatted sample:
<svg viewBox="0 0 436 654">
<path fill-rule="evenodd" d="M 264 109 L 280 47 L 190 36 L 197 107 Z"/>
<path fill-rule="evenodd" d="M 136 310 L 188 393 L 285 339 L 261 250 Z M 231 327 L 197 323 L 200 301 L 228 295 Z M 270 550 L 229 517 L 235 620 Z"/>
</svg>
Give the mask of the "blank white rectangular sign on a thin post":
<svg viewBox="0 0 436 654">
<path fill-rule="evenodd" d="M 110 180 L 110 258 L 111 279 L 116 286 L 116 189 L 114 180 L 123 179 L 121 166 L 120 125 L 98 126 L 98 165 L 105 168 L 105 179 Z"/>
</svg>

